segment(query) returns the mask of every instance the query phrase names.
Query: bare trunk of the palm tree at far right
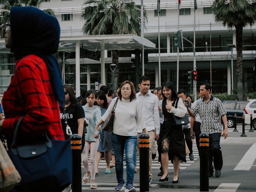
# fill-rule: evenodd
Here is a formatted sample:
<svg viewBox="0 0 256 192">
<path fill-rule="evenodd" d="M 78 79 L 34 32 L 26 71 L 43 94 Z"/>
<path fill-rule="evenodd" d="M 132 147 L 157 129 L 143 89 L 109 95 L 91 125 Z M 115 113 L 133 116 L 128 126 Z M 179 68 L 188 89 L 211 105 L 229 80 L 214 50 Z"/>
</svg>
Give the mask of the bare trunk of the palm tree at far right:
<svg viewBox="0 0 256 192">
<path fill-rule="evenodd" d="M 242 34 L 243 26 L 237 25 L 236 27 L 236 47 L 237 47 L 237 98 L 239 101 L 243 100 L 243 44 Z"/>
</svg>

